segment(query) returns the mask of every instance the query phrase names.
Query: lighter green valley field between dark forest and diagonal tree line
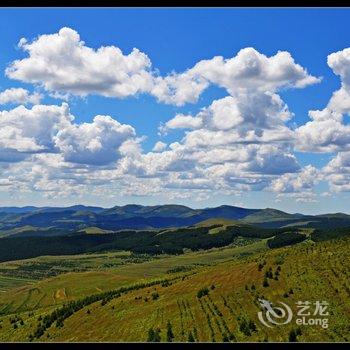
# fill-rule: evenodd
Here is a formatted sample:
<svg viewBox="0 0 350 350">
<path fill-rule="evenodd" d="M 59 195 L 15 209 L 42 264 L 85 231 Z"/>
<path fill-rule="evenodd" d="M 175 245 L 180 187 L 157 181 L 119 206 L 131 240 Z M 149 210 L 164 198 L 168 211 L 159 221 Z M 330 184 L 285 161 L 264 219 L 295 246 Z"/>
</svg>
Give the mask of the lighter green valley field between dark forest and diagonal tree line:
<svg viewBox="0 0 350 350">
<path fill-rule="evenodd" d="M 73 264 L 74 268 L 88 266 L 86 272 L 69 272 L 38 281 L 35 284 L 23 285 L 11 290 L 11 293 L 0 294 L 0 313 L 16 313 L 33 310 L 50 305 L 61 304 L 68 300 L 90 295 L 96 292 L 117 288 L 139 279 L 161 277 L 167 271 L 186 266 L 198 268 L 216 264 L 220 261 L 237 259 L 246 254 L 265 250 L 266 241 L 261 240 L 247 246 L 214 248 L 202 252 L 190 252 L 183 255 L 164 255 L 160 257 L 132 257 L 128 252 L 106 254 L 84 254 L 65 257 L 40 257 L 2 263 L 0 266 L 15 274 L 16 269 L 29 264 L 33 269 L 46 268 L 49 264 Z M 58 265 L 57 265 L 58 264 Z M 26 281 L 23 281 L 26 284 Z M 56 298 L 57 291 L 65 289 L 64 298 Z"/>
</svg>

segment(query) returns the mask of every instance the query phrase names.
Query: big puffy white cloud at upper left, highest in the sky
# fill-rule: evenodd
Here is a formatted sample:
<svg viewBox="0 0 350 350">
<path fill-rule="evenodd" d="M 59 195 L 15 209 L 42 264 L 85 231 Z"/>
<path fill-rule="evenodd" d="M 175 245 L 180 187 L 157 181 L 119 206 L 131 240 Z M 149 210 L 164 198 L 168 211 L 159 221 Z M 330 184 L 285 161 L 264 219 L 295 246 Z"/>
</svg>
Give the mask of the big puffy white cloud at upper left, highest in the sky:
<svg viewBox="0 0 350 350">
<path fill-rule="evenodd" d="M 33 42 L 21 39 L 19 47 L 28 57 L 12 62 L 6 75 L 48 91 L 126 97 L 148 91 L 152 84 L 151 63 L 146 54 L 133 49 L 124 55 L 115 46 L 94 50 L 70 28 L 40 35 Z"/>
</svg>

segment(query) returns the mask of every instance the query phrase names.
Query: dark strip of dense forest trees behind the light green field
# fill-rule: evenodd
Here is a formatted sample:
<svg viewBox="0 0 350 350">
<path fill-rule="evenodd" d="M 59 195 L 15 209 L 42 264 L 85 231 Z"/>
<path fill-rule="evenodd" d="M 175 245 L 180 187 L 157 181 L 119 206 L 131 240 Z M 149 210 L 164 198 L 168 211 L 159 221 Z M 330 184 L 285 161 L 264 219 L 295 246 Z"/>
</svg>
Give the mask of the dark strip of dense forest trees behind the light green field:
<svg viewBox="0 0 350 350">
<path fill-rule="evenodd" d="M 4 237 L 0 245 L 0 262 L 41 255 L 71 255 L 111 250 L 152 255 L 182 254 L 184 248 L 200 250 L 228 245 L 245 232 L 245 229 L 235 226 L 227 227 L 215 235 L 210 235 L 209 230 L 210 227 L 190 227 L 164 231 L 162 234 L 158 234 L 158 231 L 128 230 L 104 235 L 76 233 L 53 237 Z"/>
</svg>

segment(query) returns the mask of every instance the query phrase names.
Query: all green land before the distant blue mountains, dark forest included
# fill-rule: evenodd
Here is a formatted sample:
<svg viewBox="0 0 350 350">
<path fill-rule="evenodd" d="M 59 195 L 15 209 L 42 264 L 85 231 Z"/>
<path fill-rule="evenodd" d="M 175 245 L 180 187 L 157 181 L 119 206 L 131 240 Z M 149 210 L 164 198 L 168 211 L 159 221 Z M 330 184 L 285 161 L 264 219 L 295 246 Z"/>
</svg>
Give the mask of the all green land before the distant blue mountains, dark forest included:
<svg viewBox="0 0 350 350">
<path fill-rule="evenodd" d="M 17 233 L 0 243 L 2 342 L 350 338 L 347 227 L 213 217 L 184 227 Z M 294 312 L 300 300 L 327 301 L 329 327 L 266 327 L 262 299 Z"/>
</svg>

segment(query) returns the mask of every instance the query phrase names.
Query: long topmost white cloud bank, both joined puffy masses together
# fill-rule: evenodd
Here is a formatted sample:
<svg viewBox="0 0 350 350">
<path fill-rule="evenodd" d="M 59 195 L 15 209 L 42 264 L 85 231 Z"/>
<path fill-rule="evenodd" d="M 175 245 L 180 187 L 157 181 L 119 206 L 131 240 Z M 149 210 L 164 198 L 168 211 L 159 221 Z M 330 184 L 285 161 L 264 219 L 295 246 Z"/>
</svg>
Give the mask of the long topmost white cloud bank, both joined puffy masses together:
<svg viewBox="0 0 350 350">
<path fill-rule="evenodd" d="M 199 61 L 185 72 L 166 76 L 156 74 L 148 56 L 136 48 L 128 55 L 116 46 L 93 49 L 75 30 L 66 27 L 32 42 L 22 38 L 19 47 L 28 57 L 12 62 L 6 75 L 56 95 L 123 98 L 149 93 L 161 102 L 181 106 L 196 102 L 211 84 L 235 95 L 242 89 L 275 92 L 320 81 L 295 63 L 288 52 L 267 57 L 251 47 L 232 58 L 216 56 Z"/>
</svg>

